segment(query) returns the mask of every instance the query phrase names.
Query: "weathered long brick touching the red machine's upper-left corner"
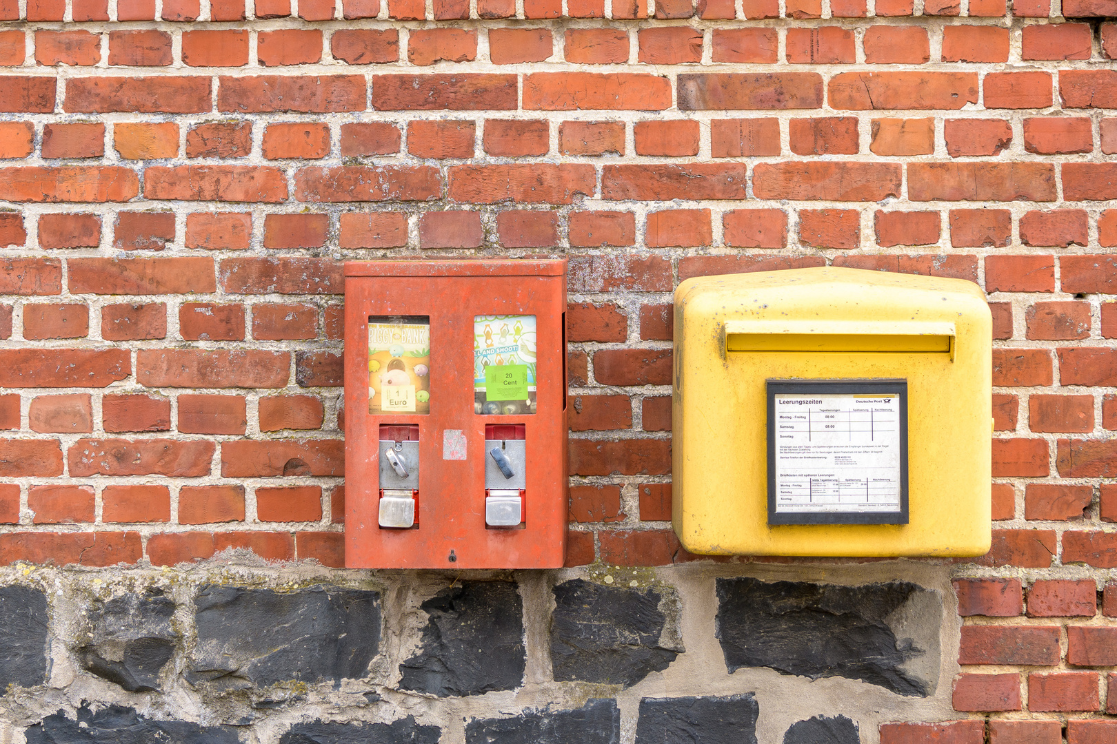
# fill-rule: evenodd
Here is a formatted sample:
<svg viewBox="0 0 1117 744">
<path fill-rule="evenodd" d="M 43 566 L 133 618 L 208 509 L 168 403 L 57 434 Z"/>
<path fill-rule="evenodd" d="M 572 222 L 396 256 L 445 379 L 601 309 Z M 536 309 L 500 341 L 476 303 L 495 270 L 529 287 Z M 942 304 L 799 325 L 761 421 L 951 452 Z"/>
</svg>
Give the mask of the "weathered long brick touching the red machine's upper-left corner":
<svg viewBox="0 0 1117 744">
<path fill-rule="evenodd" d="M 328 259 L 226 259 L 221 288 L 239 294 L 341 294 L 341 263 Z"/>
</svg>

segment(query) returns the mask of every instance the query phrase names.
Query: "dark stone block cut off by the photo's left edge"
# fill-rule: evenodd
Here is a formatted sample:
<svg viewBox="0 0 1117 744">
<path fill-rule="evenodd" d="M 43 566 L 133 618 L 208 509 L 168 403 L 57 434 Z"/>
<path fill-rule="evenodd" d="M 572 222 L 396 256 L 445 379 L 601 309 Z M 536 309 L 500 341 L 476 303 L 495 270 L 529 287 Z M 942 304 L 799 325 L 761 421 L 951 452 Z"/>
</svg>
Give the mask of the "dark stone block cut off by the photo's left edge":
<svg viewBox="0 0 1117 744">
<path fill-rule="evenodd" d="M 30 587 L 0 588 L 0 694 L 47 680 L 47 598 Z"/>
</svg>

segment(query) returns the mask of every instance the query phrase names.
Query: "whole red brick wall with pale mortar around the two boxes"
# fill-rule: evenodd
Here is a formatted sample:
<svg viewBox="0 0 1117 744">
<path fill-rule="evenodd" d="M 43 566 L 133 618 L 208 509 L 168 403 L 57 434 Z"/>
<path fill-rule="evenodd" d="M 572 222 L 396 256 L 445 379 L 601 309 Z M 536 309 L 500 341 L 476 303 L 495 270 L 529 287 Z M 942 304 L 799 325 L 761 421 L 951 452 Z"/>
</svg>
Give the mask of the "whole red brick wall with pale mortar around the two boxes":
<svg viewBox="0 0 1117 744">
<path fill-rule="evenodd" d="M 0 0 L 0 560 L 338 566 L 341 262 L 528 253 L 571 261 L 570 563 L 690 560 L 678 281 L 961 277 L 972 719 L 881 737 L 1114 741 L 1117 3 L 1012 4 Z"/>
</svg>

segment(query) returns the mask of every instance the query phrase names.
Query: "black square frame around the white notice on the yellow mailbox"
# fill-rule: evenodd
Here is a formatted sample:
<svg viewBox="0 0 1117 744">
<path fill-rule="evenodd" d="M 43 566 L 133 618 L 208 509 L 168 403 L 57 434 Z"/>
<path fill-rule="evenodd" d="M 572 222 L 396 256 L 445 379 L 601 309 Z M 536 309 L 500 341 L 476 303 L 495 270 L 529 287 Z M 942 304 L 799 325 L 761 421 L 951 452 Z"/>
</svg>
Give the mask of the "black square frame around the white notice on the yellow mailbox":
<svg viewBox="0 0 1117 744">
<path fill-rule="evenodd" d="M 907 524 L 907 380 L 869 379 L 770 379 L 767 386 L 767 502 L 768 524 Z M 873 395 L 900 396 L 900 510 L 898 512 L 806 512 L 776 514 L 775 511 L 775 396 L 776 395 Z"/>
</svg>

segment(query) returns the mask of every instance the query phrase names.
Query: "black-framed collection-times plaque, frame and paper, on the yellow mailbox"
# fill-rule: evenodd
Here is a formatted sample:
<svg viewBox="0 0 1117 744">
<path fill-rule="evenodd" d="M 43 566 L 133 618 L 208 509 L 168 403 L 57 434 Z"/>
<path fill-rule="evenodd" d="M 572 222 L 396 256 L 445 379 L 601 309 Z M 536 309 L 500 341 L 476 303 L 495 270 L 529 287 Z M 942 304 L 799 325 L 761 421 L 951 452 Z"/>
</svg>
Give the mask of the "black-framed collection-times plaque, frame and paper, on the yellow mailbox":
<svg viewBox="0 0 1117 744">
<path fill-rule="evenodd" d="M 767 380 L 768 524 L 907 524 L 907 380 Z"/>
</svg>

